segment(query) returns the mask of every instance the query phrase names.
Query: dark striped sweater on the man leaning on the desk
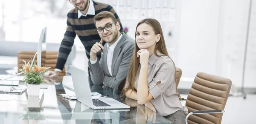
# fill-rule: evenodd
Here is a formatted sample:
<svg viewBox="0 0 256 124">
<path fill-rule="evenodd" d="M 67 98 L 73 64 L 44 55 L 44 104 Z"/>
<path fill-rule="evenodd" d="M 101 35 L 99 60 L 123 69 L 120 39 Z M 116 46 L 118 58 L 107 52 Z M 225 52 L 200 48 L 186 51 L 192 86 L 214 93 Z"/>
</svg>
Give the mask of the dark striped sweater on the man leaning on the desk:
<svg viewBox="0 0 256 124">
<path fill-rule="evenodd" d="M 120 19 L 112 6 L 94 1 L 93 4 L 95 8 L 95 15 L 102 11 L 112 12 L 116 17 L 116 20 L 120 23 L 120 32 L 123 32 Z M 100 41 L 99 34 L 96 26 L 94 25 L 93 17 L 94 15 L 88 14 L 86 17 L 81 16 L 78 18 L 77 9 L 73 9 L 67 14 L 67 29 L 61 42 L 55 69 L 62 70 L 64 68 L 67 57 L 70 54 L 71 48 L 74 44 L 76 35 L 84 45 L 87 58 L 90 59 L 90 49 L 92 48 L 93 44 Z M 97 57 L 100 58 L 100 53 L 97 54 Z"/>
</svg>

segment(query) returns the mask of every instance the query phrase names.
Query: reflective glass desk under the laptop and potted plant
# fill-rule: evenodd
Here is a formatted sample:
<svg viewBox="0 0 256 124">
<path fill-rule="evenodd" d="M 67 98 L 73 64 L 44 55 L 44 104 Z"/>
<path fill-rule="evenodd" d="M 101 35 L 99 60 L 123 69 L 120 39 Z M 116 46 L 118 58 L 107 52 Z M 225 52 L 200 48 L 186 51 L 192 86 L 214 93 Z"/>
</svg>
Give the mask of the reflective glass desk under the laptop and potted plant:
<svg viewBox="0 0 256 124">
<path fill-rule="evenodd" d="M 46 80 L 44 85 L 48 88 L 40 89 L 40 96 L 36 98 L 28 96 L 26 91 L 22 94 L 0 92 L 0 124 L 173 124 L 148 107 L 138 105 L 137 101 L 121 99 L 119 92 L 110 87 L 93 85 L 91 92 L 109 94 L 111 98 L 129 105 L 130 109 L 92 110 L 79 101 L 59 96 L 61 93 L 73 93 L 62 84 Z M 25 87 L 24 82 L 20 81 L 18 87 Z M 33 100 L 38 103 L 31 103 Z"/>
</svg>

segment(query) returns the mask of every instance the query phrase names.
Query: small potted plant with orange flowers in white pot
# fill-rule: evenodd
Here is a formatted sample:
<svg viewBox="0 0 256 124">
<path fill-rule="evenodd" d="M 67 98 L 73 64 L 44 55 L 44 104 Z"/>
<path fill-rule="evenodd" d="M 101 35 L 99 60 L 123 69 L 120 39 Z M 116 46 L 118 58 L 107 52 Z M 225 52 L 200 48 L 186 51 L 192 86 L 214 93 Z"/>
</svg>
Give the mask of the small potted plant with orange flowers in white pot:
<svg viewBox="0 0 256 124">
<path fill-rule="evenodd" d="M 28 95 L 39 96 L 40 84 L 44 82 L 42 75 L 47 72 L 46 67 L 38 67 L 36 63 L 30 64 L 23 61 L 21 72 L 24 73 L 23 81 L 27 84 Z"/>
</svg>

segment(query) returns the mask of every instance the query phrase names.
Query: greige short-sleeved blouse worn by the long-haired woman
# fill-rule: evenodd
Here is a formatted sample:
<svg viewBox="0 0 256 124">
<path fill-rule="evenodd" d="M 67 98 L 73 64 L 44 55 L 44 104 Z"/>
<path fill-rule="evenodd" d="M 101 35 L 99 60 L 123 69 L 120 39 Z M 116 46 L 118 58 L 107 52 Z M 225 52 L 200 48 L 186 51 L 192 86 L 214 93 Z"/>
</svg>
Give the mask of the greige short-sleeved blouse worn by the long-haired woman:
<svg viewBox="0 0 256 124">
<path fill-rule="evenodd" d="M 157 55 L 163 55 L 157 50 Z M 153 96 L 151 103 L 158 114 L 162 116 L 171 115 L 178 110 L 188 113 L 188 109 L 181 105 L 176 93 L 175 65 L 168 56 L 153 54 L 148 59 L 148 91 Z M 138 88 L 140 76 L 140 65 L 137 71 L 135 89 Z M 157 82 L 161 83 L 156 85 Z"/>
</svg>

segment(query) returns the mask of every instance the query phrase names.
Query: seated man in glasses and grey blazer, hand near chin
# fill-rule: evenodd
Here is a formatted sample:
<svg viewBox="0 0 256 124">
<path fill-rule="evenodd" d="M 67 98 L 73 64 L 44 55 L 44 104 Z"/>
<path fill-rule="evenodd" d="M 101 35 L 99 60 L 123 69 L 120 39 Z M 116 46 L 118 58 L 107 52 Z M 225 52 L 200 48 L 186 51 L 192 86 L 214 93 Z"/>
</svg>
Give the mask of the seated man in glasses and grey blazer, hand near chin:
<svg viewBox="0 0 256 124">
<path fill-rule="evenodd" d="M 95 43 L 90 50 L 88 65 L 91 79 L 93 84 L 103 83 L 108 87 L 118 89 L 119 84 L 125 81 L 127 76 L 135 41 L 125 33 L 119 32 L 120 23 L 111 12 L 104 11 L 96 14 L 94 23 L 101 41 Z M 103 41 L 106 42 L 104 46 Z M 97 59 L 97 53 L 102 55 L 100 61 Z"/>
</svg>

